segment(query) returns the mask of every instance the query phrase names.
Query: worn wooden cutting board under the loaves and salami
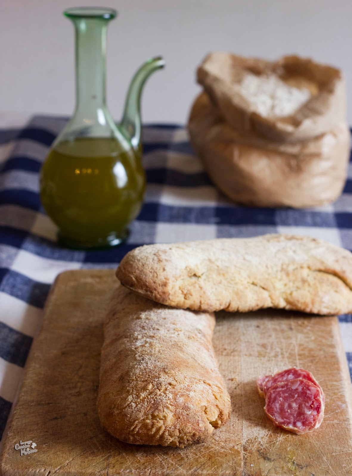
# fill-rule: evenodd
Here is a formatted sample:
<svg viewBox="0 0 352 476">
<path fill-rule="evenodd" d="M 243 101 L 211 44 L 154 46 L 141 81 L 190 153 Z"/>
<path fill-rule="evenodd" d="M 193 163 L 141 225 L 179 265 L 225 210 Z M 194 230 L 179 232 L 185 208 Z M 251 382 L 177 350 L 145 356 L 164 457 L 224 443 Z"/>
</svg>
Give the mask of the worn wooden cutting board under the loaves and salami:
<svg viewBox="0 0 352 476">
<path fill-rule="evenodd" d="M 106 433 L 95 401 L 102 322 L 115 286 L 110 270 L 57 278 L 2 439 L 1 475 L 352 474 L 351 381 L 336 317 L 219 314 L 214 346 L 232 401 L 228 424 L 185 449 L 128 445 Z M 326 394 L 323 423 L 311 434 L 275 428 L 256 389 L 258 376 L 291 366 L 311 370 Z M 20 440 L 37 451 L 21 456 Z"/>
</svg>

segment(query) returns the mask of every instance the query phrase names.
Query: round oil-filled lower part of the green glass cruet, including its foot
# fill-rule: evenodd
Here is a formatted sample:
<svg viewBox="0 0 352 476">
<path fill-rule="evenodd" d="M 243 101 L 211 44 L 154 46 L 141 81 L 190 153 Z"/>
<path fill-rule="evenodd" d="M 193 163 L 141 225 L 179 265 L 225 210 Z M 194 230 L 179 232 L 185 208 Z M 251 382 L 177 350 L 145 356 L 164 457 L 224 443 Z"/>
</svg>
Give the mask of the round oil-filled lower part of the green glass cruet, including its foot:
<svg viewBox="0 0 352 476">
<path fill-rule="evenodd" d="M 115 138 L 60 142 L 41 170 L 41 201 L 68 246 L 111 246 L 139 213 L 145 173 Z"/>
</svg>

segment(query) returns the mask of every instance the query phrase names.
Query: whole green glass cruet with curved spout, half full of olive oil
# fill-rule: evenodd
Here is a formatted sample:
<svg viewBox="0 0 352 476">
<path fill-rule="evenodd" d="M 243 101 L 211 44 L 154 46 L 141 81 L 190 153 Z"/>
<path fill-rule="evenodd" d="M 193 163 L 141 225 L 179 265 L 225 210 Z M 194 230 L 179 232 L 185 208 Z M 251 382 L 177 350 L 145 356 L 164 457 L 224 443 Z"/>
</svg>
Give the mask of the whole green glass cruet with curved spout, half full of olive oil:
<svg viewBox="0 0 352 476">
<path fill-rule="evenodd" d="M 105 248 L 123 242 L 145 191 L 140 99 L 146 79 L 165 66 L 148 60 L 135 73 L 119 125 L 106 107 L 108 22 L 116 11 L 70 8 L 76 38 L 76 108 L 41 169 L 41 202 L 70 248 Z"/>
</svg>

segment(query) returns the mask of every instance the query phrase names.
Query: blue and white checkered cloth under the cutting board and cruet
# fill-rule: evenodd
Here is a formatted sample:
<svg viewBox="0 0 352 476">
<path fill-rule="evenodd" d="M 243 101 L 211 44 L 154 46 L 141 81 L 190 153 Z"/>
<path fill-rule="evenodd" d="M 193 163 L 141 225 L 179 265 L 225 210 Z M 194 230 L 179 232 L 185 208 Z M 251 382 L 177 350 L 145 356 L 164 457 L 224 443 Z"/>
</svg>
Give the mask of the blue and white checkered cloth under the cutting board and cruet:
<svg viewBox="0 0 352 476">
<path fill-rule="evenodd" d="M 0 118 L 0 436 L 22 377 L 50 286 L 65 269 L 115 268 L 127 251 L 148 243 L 251 237 L 289 232 L 352 250 L 352 163 L 333 205 L 296 209 L 234 205 L 212 185 L 179 126 L 144 128 L 144 207 L 124 245 L 73 251 L 56 243 L 41 208 L 38 173 L 65 119 L 35 117 L 4 127 Z M 2 129 L 1 129 L 2 127 Z M 352 316 L 340 317 L 352 373 Z"/>
</svg>

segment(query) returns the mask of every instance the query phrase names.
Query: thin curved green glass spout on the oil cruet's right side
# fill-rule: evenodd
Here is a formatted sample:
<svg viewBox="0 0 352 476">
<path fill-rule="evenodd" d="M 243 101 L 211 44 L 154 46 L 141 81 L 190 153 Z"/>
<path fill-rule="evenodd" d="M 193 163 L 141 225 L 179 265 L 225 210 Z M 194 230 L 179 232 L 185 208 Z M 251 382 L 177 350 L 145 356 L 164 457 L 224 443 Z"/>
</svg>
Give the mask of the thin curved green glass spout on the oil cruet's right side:
<svg viewBox="0 0 352 476">
<path fill-rule="evenodd" d="M 141 95 L 145 81 L 157 69 L 165 66 L 165 60 L 161 57 L 151 58 L 146 61 L 135 73 L 128 89 L 124 105 L 124 115 L 119 129 L 131 142 L 133 148 L 141 152 Z"/>
</svg>

